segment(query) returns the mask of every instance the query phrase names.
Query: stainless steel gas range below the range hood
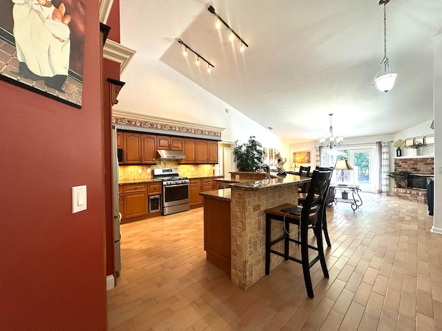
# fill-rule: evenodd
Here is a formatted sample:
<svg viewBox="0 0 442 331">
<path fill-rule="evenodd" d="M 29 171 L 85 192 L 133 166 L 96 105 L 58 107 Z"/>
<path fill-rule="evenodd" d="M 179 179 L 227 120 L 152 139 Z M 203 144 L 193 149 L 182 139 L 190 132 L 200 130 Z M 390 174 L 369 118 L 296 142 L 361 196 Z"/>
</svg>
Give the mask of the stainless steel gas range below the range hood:
<svg viewBox="0 0 442 331">
<path fill-rule="evenodd" d="M 180 177 L 178 168 L 153 170 L 153 178 L 162 181 L 163 215 L 184 212 L 190 209 L 189 179 Z"/>
</svg>

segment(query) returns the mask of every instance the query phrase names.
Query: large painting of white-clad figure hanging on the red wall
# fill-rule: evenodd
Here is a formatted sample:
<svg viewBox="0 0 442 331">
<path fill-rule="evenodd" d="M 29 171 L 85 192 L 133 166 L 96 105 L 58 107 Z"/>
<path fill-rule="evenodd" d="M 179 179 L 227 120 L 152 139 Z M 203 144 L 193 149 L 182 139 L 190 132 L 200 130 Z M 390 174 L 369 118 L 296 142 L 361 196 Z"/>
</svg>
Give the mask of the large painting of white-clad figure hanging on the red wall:
<svg viewBox="0 0 442 331">
<path fill-rule="evenodd" d="M 0 1 L 0 50 L 6 53 L 6 61 L 0 62 L 0 79 L 81 108 L 84 3 Z"/>
</svg>

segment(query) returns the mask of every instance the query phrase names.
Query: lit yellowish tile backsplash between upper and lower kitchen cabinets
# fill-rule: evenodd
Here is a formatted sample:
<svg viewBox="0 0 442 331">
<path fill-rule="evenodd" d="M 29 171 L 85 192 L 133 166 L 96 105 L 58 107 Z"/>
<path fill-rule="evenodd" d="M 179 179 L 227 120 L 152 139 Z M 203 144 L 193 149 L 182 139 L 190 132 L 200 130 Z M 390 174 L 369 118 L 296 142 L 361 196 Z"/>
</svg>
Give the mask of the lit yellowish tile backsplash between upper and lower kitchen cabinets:
<svg viewBox="0 0 442 331">
<path fill-rule="evenodd" d="M 153 165 L 119 165 L 119 182 L 147 181 L 153 178 L 155 168 L 178 168 L 183 177 L 213 176 L 213 164 L 178 164 L 176 160 L 158 160 Z"/>
</svg>

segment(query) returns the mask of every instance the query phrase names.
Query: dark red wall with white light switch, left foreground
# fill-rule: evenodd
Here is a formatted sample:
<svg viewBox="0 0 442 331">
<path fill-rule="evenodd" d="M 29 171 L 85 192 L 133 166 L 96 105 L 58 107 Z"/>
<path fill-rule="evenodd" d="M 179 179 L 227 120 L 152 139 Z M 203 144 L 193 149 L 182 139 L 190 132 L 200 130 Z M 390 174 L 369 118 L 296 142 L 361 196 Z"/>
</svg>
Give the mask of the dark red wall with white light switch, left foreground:
<svg viewBox="0 0 442 331">
<path fill-rule="evenodd" d="M 106 330 L 99 1 L 83 2 L 81 109 L 0 81 L 1 330 Z"/>
</svg>

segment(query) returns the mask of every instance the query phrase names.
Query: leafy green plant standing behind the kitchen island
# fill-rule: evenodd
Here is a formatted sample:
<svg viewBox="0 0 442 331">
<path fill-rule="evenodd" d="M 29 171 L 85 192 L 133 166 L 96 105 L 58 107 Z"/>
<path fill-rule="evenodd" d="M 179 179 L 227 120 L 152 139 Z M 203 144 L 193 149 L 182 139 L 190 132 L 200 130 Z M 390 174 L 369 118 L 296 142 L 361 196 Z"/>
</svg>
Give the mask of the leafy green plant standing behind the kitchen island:
<svg viewBox="0 0 442 331">
<path fill-rule="evenodd" d="M 254 136 L 250 136 L 247 143 L 238 145 L 238 140 L 235 141 L 233 157 L 239 171 L 254 172 L 256 167 L 262 165 L 264 150 L 261 143 L 256 141 Z"/>
</svg>

